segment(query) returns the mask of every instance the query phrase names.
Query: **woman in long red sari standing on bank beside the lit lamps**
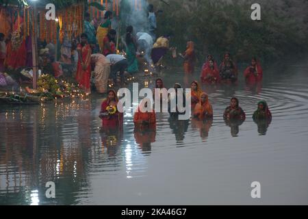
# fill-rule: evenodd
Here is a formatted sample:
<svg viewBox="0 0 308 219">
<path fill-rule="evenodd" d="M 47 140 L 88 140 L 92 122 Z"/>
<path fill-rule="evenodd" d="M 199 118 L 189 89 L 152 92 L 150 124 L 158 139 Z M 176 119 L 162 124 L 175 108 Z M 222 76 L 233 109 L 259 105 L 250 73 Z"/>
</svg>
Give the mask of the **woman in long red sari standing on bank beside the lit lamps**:
<svg viewBox="0 0 308 219">
<path fill-rule="evenodd" d="M 81 43 L 77 46 L 78 51 L 78 64 L 76 80 L 79 87 L 85 92 L 89 93 L 90 90 L 90 76 L 91 76 L 91 47 L 88 44 L 88 36 L 81 34 Z"/>
</svg>

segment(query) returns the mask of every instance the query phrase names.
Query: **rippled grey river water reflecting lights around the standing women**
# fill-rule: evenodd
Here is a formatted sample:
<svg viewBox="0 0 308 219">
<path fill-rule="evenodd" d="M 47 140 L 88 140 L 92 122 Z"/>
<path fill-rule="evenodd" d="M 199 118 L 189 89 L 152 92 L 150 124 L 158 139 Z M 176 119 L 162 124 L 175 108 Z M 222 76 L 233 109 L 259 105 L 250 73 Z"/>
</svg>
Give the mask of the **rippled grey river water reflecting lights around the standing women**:
<svg viewBox="0 0 308 219">
<path fill-rule="evenodd" d="M 102 135 L 103 96 L 42 105 L 0 105 L 0 204 L 6 205 L 278 205 L 308 204 L 308 60 L 264 69 L 261 87 L 204 87 L 213 123 L 168 120 L 157 114 L 156 133 Z M 242 72 L 242 69 L 241 69 Z M 160 76 L 164 85 L 189 86 L 181 68 Z M 141 79 L 140 88 L 155 78 Z M 222 113 L 232 96 L 246 121 L 231 127 Z M 255 124 L 266 99 L 272 123 Z M 45 185 L 55 183 L 55 198 Z M 251 197 L 251 183 L 261 198 Z"/>
</svg>

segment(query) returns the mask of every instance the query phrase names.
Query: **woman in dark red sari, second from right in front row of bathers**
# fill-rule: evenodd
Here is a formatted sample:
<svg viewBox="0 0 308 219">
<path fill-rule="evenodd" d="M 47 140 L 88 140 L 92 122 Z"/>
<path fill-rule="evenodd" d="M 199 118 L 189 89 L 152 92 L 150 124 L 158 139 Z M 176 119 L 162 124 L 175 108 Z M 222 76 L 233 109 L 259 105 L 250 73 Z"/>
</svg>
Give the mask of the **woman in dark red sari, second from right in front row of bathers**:
<svg viewBox="0 0 308 219">
<path fill-rule="evenodd" d="M 224 110 L 224 120 L 245 120 L 246 114 L 240 107 L 236 97 L 231 99 L 231 104 Z"/>
</svg>

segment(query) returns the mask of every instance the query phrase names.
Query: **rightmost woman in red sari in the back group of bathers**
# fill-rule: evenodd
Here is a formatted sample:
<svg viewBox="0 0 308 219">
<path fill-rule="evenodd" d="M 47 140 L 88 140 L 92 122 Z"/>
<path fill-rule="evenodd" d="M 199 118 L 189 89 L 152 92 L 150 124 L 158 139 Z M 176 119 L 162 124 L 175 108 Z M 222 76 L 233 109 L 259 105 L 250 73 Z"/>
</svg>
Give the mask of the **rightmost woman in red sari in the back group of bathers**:
<svg viewBox="0 0 308 219">
<path fill-rule="evenodd" d="M 255 84 L 262 81 L 263 70 L 259 62 L 257 62 L 257 58 L 253 57 L 253 60 L 251 60 L 251 66 L 248 66 L 244 71 L 244 77 L 248 84 Z"/>
</svg>

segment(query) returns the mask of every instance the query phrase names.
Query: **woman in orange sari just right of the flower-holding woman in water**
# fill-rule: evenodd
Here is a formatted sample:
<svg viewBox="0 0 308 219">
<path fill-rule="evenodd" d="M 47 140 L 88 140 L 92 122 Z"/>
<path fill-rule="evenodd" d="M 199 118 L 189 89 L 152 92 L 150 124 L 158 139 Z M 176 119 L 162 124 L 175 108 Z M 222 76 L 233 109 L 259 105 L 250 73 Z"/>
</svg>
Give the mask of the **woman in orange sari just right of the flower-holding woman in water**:
<svg viewBox="0 0 308 219">
<path fill-rule="evenodd" d="M 155 129 L 156 114 L 149 98 L 143 99 L 133 116 L 136 129 Z"/>
</svg>

